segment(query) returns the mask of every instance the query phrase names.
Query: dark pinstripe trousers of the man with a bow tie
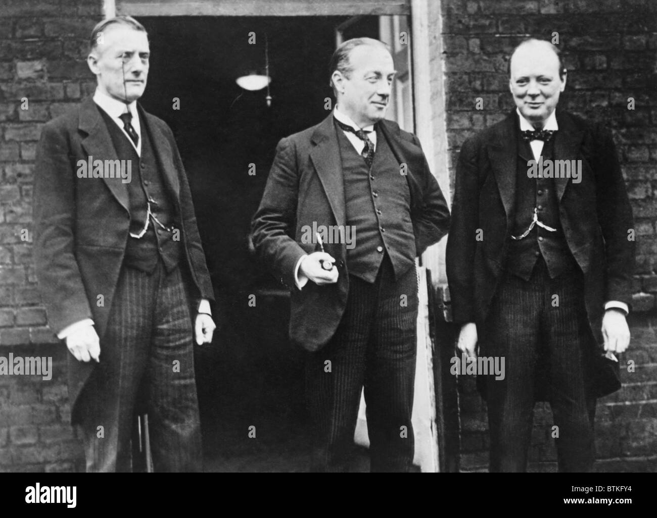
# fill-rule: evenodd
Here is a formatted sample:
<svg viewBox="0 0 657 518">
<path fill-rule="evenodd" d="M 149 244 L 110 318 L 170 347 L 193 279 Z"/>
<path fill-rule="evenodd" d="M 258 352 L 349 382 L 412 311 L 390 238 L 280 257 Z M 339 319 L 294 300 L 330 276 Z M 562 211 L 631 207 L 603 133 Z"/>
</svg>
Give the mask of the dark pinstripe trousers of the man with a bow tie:
<svg viewBox="0 0 657 518">
<path fill-rule="evenodd" d="M 486 377 L 491 472 L 526 471 L 538 374 L 549 384 L 559 471 L 591 471 L 593 337 L 583 293 L 579 269 L 550 278 L 541 257 L 529 281 L 505 274 L 482 337 L 481 354 L 506 366 L 504 379 Z"/>
</svg>

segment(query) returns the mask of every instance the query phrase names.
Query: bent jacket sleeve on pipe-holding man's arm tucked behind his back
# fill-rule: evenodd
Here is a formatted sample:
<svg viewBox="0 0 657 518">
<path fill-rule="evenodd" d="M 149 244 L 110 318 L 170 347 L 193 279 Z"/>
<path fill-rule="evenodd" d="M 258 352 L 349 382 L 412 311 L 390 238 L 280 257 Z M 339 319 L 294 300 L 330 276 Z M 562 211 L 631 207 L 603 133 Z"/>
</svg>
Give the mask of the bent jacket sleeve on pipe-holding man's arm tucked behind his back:
<svg viewBox="0 0 657 518">
<path fill-rule="evenodd" d="M 420 140 L 414 137 L 415 144 L 421 149 Z M 422 175 L 422 206 L 419 216 L 413 218 L 413 231 L 415 232 L 415 250 L 417 255 L 434 243 L 440 241 L 449 230 L 449 207 L 445 196 L 432 175 L 426 157 L 424 161 L 424 174 Z"/>
</svg>

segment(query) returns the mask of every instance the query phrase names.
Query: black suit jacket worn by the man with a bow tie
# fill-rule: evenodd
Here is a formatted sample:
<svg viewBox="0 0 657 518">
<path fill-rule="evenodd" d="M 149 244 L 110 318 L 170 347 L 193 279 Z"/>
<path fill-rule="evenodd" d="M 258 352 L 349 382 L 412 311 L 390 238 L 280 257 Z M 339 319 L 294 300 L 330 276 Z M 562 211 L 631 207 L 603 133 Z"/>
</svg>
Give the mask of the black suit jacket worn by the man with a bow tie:
<svg viewBox="0 0 657 518">
<path fill-rule="evenodd" d="M 581 160 L 581 183 L 555 179 L 559 219 L 584 274 L 593 338 L 604 303 L 631 303 L 635 242 L 632 210 L 612 135 L 600 125 L 556 110 L 555 160 Z M 515 217 L 517 114 L 466 140 L 457 165 L 447 280 L 455 322 L 476 322 L 480 336 L 507 258 Z M 531 157 L 523 157 L 533 160 Z M 476 240 L 476 231 L 483 239 Z"/>
</svg>

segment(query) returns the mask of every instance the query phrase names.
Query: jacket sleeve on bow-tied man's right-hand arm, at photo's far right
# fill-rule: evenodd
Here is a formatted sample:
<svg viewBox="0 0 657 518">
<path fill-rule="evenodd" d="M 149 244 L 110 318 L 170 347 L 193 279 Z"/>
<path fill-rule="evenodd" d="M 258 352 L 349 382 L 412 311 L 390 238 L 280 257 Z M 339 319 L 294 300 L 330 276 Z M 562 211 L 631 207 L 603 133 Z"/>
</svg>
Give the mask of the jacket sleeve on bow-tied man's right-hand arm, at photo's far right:
<svg viewBox="0 0 657 518">
<path fill-rule="evenodd" d="M 596 175 L 596 209 L 606 256 L 605 301 L 631 305 L 632 275 L 635 269 L 636 230 L 632 207 L 610 131 L 595 128 L 594 171 Z"/>
</svg>

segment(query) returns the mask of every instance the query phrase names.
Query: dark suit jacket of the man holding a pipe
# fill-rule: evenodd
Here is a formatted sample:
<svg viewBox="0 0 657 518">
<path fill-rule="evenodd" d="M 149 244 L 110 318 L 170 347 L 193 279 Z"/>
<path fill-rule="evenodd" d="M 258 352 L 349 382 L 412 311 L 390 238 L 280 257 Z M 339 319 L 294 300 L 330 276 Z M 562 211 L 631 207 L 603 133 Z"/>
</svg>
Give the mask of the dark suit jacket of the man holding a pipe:
<svg viewBox="0 0 657 518">
<path fill-rule="evenodd" d="M 399 163 L 407 164 L 411 219 L 420 255 L 449 228 L 449 209 L 431 174 L 420 142 L 392 121 L 380 122 L 381 132 Z M 304 226 L 346 225 L 344 183 L 338 136 L 332 114 L 305 131 L 282 139 L 252 222 L 252 241 L 263 265 L 292 288 L 290 338 L 317 351 L 334 334 L 347 303 L 349 275 L 345 243 L 324 244 L 336 259 L 338 282 L 317 286 L 308 282 L 298 290 L 296 263 L 316 244 L 302 243 Z"/>
</svg>

